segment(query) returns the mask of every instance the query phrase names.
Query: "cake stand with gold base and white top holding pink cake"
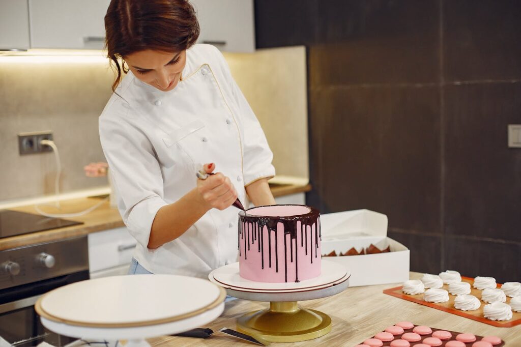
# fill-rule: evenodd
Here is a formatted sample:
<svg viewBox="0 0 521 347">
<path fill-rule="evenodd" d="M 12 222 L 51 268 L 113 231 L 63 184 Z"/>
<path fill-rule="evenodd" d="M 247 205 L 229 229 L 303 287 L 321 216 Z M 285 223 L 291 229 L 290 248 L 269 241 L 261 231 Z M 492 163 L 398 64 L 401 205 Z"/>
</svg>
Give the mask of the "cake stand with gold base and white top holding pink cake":
<svg viewBox="0 0 521 347">
<path fill-rule="evenodd" d="M 331 331 L 327 314 L 301 308 L 297 302 L 338 294 L 348 288 L 350 276 L 351 272 L 341 264 L 322 260 L 321 275 L 299 283 L 250 281 L 239 276 L 239 263 L 215 269 L 208 278 L 235 298 L 270 302 L 269 308 L 238 318 L 238 331 L 270 342 L 297 342 Z"/>
</svg>

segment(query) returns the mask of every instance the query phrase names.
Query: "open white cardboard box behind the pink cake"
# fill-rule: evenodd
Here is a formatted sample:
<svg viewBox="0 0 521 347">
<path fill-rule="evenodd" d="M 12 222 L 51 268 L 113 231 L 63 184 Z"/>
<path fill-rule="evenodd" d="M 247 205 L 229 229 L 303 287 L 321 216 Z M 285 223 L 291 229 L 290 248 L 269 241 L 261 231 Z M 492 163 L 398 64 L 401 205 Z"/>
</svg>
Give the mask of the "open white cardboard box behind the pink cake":
<svg viewBox="0 0 521 347">
<path fill-rule="evenodd" d="M 398 283 L 409 279 L 409 250 L 387 237 L 387 216 L 367 209 L 328 213 L 320 216 L 322 254 L 344 253 L 355 247 L 379 249 L 389 245 L 391 252 L 379 254 L 324 256 L 351 271 L 350 287 Z"/>
</svg>

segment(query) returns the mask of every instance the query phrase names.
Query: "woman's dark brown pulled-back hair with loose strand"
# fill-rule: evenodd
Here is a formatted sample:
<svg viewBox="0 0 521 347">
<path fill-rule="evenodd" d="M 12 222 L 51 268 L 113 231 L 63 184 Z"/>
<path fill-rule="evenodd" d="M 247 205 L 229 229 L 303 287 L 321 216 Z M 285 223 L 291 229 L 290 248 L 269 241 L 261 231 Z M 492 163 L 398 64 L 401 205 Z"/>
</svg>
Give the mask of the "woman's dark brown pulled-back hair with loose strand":
<svg viewBox="0 0 521 347">
<path fill-rule="evenodd" d="M 121 81 L 118 58 L 153 49 L 181 52 L 199 38 L 199 23 L 188 0 L 111 0 L 105 15 L 105 47 L 115 72 L 112 91 Z"/>
</svg>

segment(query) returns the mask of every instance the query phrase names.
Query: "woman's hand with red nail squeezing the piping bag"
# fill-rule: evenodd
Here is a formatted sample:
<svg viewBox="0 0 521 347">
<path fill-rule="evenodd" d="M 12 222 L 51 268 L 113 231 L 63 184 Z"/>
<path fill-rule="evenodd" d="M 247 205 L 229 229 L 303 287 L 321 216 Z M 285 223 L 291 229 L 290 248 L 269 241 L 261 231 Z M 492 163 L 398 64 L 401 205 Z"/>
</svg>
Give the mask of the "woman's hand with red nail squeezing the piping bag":
<svg viewBox="0 0 521 347">
<path fill-rule="evenodd" d="M 212 173 L 215 169 L 213 163 L 205 164 L 206 173 Z M 230 179 L 221 172 L 208 175 L 204 180 L 197 179 L 197 193 L 208 209 L 217 208 L 223 210 L 230 207 L 237 200 L 237 191 Z"/>
</svg>

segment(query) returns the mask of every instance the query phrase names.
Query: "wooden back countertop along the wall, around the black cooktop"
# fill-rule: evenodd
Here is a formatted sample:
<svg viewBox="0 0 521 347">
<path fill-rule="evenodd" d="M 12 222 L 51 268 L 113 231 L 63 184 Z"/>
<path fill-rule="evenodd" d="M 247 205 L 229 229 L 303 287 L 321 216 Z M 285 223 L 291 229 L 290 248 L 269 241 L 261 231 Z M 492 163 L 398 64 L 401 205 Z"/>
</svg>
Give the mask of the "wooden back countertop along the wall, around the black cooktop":
<svg viewBox="0 0 521 347">
<path fill-rule="evenodd" d="M 275 197 L 277 197 L 301 192 L 308 192 L 311 190 L 311 185 L 270 183 L 270 188 L 272 194 Z M 49 204 L 49 206 L 40 206 L 40 208 L 44 212 L 50 214 L 67 214 L 85 210 L 91 206 L 94 206 L 100 201 L 100 197 L 84 197 L 82 199 L 61 201 L 60 210 L 53 207 L 51 204 Z M 34 205 L 13 207 L 9 209 L 37 214 L 36 210 L 34 209 Z M 84 236 L 91 232 L 103 231 L 125 226 L 125 224 L 123 224 L 123 221 L 121 220 L 121 216 L 119 215 L 118 210 L 116 208 L 111 208 L 108 200 L 105 201 L 100 207 L 96 208 L 95 210 L 84 216 L 71 217 L 65 219 L 81 221 L 83 222 L 83 224 L 65 228 L 32 232 L 29 234 L 18 235 L 9 238 L 3 238 L 0 239 L 0 251 L 15 247 L 27 246 L 35 243 Z"/>
</svg>

